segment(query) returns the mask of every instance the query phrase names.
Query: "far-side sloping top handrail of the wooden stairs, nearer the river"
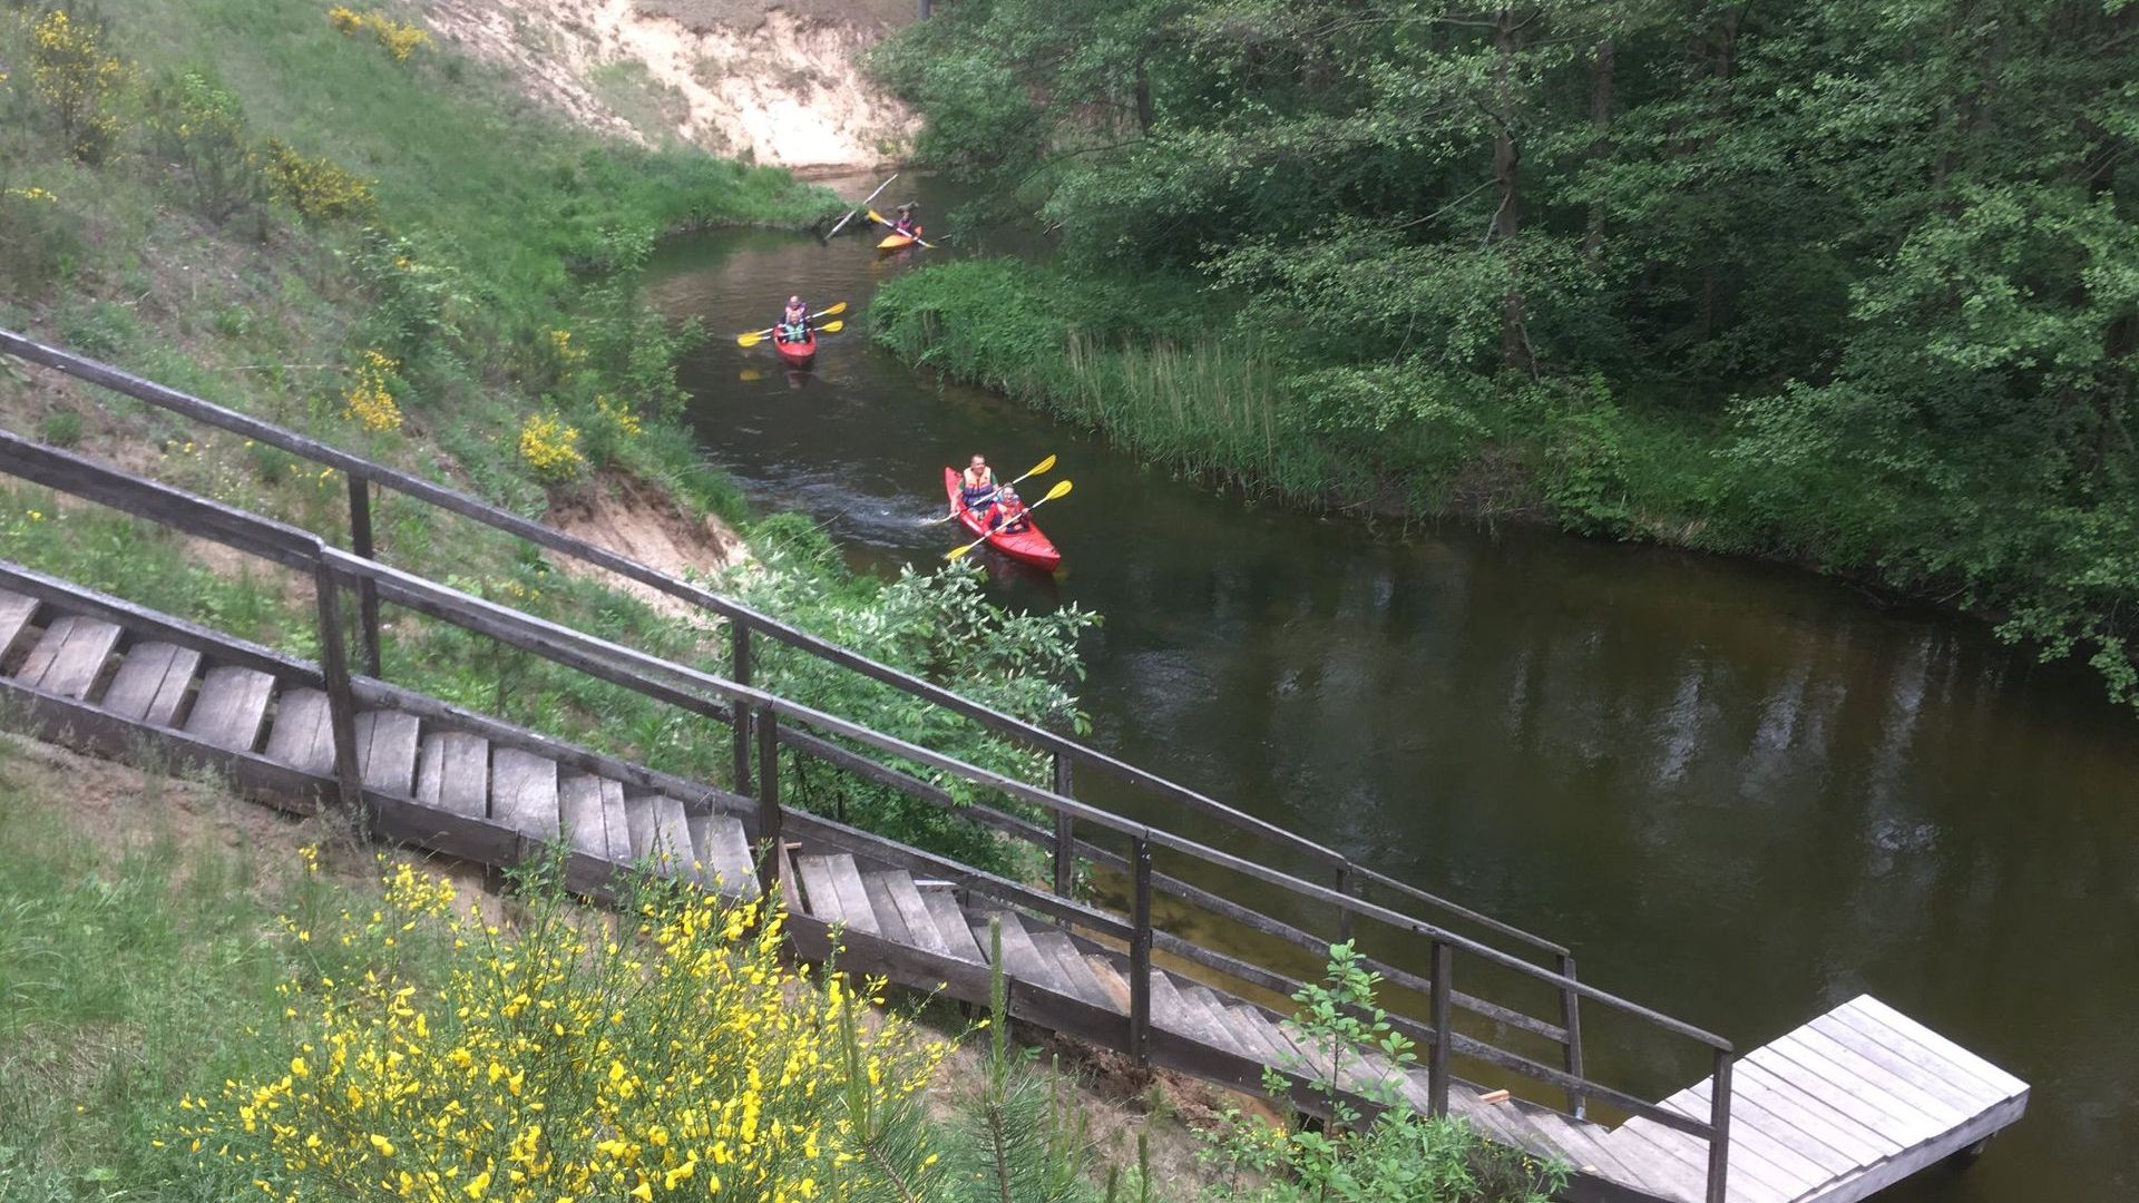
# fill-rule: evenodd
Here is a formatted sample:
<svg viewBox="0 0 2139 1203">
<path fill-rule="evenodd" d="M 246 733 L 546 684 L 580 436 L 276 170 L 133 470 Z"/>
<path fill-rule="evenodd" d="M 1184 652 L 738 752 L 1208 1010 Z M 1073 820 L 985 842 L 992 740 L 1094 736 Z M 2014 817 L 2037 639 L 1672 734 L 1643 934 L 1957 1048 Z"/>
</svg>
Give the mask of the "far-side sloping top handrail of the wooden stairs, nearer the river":
<svg viewBox="0 0 2139 1203">
<path fill-rule="evenodd" d="M 809 631 L 804 631 L 800 627 L 794 627 L 789 623 L 783 623 L 783 621 L 779 621 L 779 619 L 774 619 L 770 614 L 764 614 L 764 612 L 757 612 L 757 610 L 753 610 L 749 606 L 742 606 L 740 602 L 734 602 L 729 597 L 721 597 L 721 595 L 717 595 L 717 593 L 712 593 L 708 589 L 702 589 L 697 584 L 691 584 L 687 580 L 680 580 L 676 576 L 659 572 L 659 569 L 655 569 L 650 565 L 644 565 L 640 561 L 622 557 L 622 554 L 618 554 L 618 552 L 614 552 L 610 548 L 599 546 L 599 544 L 593 544 L 593 542 L 586 542 L 586 539 L 578 539 L 573 535 L 567 535 L 563 531 L 545 527 L 541 522 L 522 518 L 520 514 L 513 514 L 513 512 L 503 509 L 498 505 L 490 505 L 486 501 L 479 501 L 479 499 L 468 497 L 464 492 L 458 492 L 453 488 L 445 488 L 441 484 L 428 482 L 424 477 L 404 473 L 400 469 L 394 469 L 394 467 L 387 467 L 387 465 L 381 465 L 381 462 L 374 462 L 374 460 L 366 460 L 364 456 L 355 456 L 351 452 L 334 447 L 332 443 L 323 443 L 319 439 L 310 439 L 306 435 L 297 435 L 295 430 L 276 426 L 272 422 L 263 422 L 263 420 L 252 417 L 248 413 L 240 413 L 235 409 L 227 409 L 227 407 L 214 405 L 210 400 L 203 400 L 203 398 L 197 398 L 193 394 L 186 394 L 186 392 L 160 385 L 156 381 L 141 379 L 141 377 L 137 377 L 133 372 L 126 372 L 126 370 L 120 370 L 120 368 L 116 368 L 111 364 L 103 364 L 98 360 L 90 360 L 86 355 L 75 355 L 75 353 L 64 351 L 60 347 L 51 347 L 51 345 L 39 342 L 34 338 L 26 338 L 26 336 L 21 336 L 17 332 L 11 332 L 11 330 L 0 330 L 0 353 L 15 355 L 15 357 L 28 360 L 32 364 L 43 364 L 47 368 L 53 368 L 53 370 L 71 375 L 75 379 L 94 383 L 98 387 L 107 387 L 111 392 L 130 396 L 135 400 L 141 400 L 141 402 L 167 409 L 171 413 L 180 413 L 180 415 L 190 417 L 195 422 L 201 422 L 205 426 L 216 426 L 216 428 L 229 430 L 233 435 L 244 435 L 246 439 L 252 439 L 257 443 L 280 447 L 280 450 L 284 450 L 284 452 L 289 452 L 293 456 L 299 456 L 299 458 L 312 460 L 317 465 L 325 465 L 325 467 L 332 467 L 336 471 L 342 471 L 349 477 L 349 482 L 351 482 L 351 531 L 353 531 L 353 539 L 357 544 L 355 550 L 364 559 L 368 559 L 370 550 L 372 550 L 368 546 L 370 544 L 370 501 L 368 501 L 368 492 L 364 488 L 359 488 L 359 482 L 370 482 L 370 484 L 379 484 L 383 488 L 391 488 L 396 492 L 402 492 L 406 497 L 415 497 L 419 501 L 426 501 L 430 505 L 436 505 L 436 507 L 447 509 L 451 514 L 458 514 L 462 518 L 468 518 L 468 520 L 475 520 L 475 522 L 483 522 L 483 524 L 494 527 L 498 531 L 505 531 L 509 535 L 528 539 L 528 542 L 533 542 L 537 546 L 543 546 L 543 548 L 569 554 L 569 557 L 580 559 L 584 563 L 590 563 L 595 567 L 614 572 L 614 574 L 618 574 L 618 576 L 622 576 L 627 580 L 635 580 L 640 584 L 657 589 L 657 591 L 661 591 L 661 593 L 665 593 L 670 597 L 676 597 L 680 602 L 689 602 L 689 604 L 693 604 L 697 608 L 704 608 L 704 610 L 710 610 L 714 614 L 721 614 L 729 623 L 736 623 L 740 629 L 761 631 L 761 634 L 766 634 L 766 636 L 770 636 L 770 638 L 774 638 L 774 640 L 779 640 L 779 642 L 783 642 L 787 646 L 806 651 L 806 653 L 811 653 L 811 655 L 815 655 L 815 657 L 819 657 L 819 659 L 824 659 L 828 664 L 836 664 L 841 668 L 847 668 L 851 672 L 868 676 L 868 679 L 873 679 L 877 683 L 890 685 L 890 687 L 901 689 L 905 694 L 911 694 L 915 698 L 924 698 L 924 700 L 928 700 L 928 702 L 933 702 L 937 706 L 943 706 L 943 709 L 948 709 L 952 713 L 958 713 L 958 715 L 963 715 L 963 717 L 967 717 L 971 721 L 978 721 L 978 724 L 982 724 L 982 726 L 986 726 L 986 728 L 990 728 L 990 730 L 995 730 L 999 734 L 1007 734 L 1007 736 L 1020 738 L 1020 741 L 1025 741 L 1025 743 L 1029 743 L 1033 747 L 1040 747 L 1044 751 L 1050 751 L 1050 753 L 1055 753 L 1059 758 L 1067 758 L 1072 762 L 1082 762 L 1082 764 L 1102 768 L 1108 775 L 1112 775 L 1112 777 L 1117 777 L 1117 779 L 1121 779 L 1121 781 L 1125 781 L 1129 786 L 1164 794 L 1166 798 L 1170 798 L 1170 801 L 1187 807 L 1189 811 L 1202 813 L 1206 818 L 1217 818 L 1217 820 L 1226 822 L 1228 826 L 1247 831 L 1247 833 L 1251 833 L 1251 835 L 1256 835 L 1260 839 L 1266 839 L 1271 843 L 1277 843 L 1277 846 L 1281 846 L 1281 848 L 1286 848 L 1290 852 L 1303 854 L 1303 856 L 1307 856 L 1307 858 L 1311 858 L 1311 861 L 1315 861 L 1315 863 L 1320 863 L 1324 867 L 1330 867 L 1330 869 L 1345 869 L 1345 867 L 1350 867 L 1350 869 L 1358 871 L 1363 880 L 1373 880 L 1375 884 L 1382 884 L 1386 888 L 1399 890 L 1399 893 L 1407 895 L 1414 901 L 1420 901 L 1420 903 L 1427 903 L 1427 905 L 1433 905 L 1433 908 L 1442 908 L 1442 910 L 1446 910 L 1446 912 L 1463 918 L 1465 923 L 1474 923 L 1474 925 L 1480 925 L 1480 927 L 1484 927 L 1489 931 L 1506 935 L 1510 940 L 1519 940 L 1523 944 L 1529 944 L 1529 946 L 1538 948 L 1544 955 L 1555 955 L 1557 957 L 1557 955 L 1566 953 L 1566 948 L 1561 948 L 1559 944 L 1555 944 L 1551 940 L 1544 940 L 1542 935 L 1534 935 L 1534 933 L 1523 931 L 1523 929 L 1519 929 L 1514 925 L 1508 925 L 1508 923 L 1502 923 L 1497 918 L 1491 918 L 1491 916 L 1478 914 L 1474 910 L 1461 908 L 1461 905 L 1457 905 L 1457 903 L 1452 903 L 1448 899 L 1442 899 L 1442 897 L 1431 895 L 1427 890 L 1420 890 L 1416 886 L 1407 886 L 1407 884 L 1397 882 L 1392 878 L 1386 878 L 1386 875 L 1360 869 L 1360 867 L 1352 865 L 1352 861 L 1348 856 L 1343 856 L 1341 852 L 1337 852 L 1333 848 L 1315 843 L 1315 841 L 1311 841 L 1311 839 L 1307 839 L 1307 837 L 1303 837 L 1303 835 L 1298 835 L 1294 831 L 1288 831 L 1283 826 L 1277 826 L 1277 824 L 1273 824 L 1268 820 L 1262 820 L 1262 818 L 1256 818 L 1256 816 L 1245 813 L 1241 809 L 1228 807 L 1226 803 L 1219 803 L 1219 801 L 1215 801 L 1215 798 L 1211 798 L 1206 794 L 1189 790 L 1187 786 L 1181 786 L 1176 781 L 1159 777 L 1157 773 L 1151 773 L 1147 768 L 1138 768 L 1136 764 L 1129 764 L 1125 760 L 1108 756 L 1108 753 L 1104 753 L 1104 751 L 1099 751 L 1099 749 L 1095 749 L 1091 745 L 1084 745 L 1084 743 L 1078 743 L 1074 738 L 1061 736 L 1061 734 L 1050 732 L 1050 730 L 1046 730 L 1046 728 L 1042 728 L 1037 724 L 1025 721 L 1025 719 L 1020 719 L 1016 715 L 1005 715 L 1005 713 L 1001 713 L 1001 711 L 997 711 L 992 706 L 973 702 L 971 698 L 965 698 L 963 694 L 956 694 L 954 689 L 948 689 L 948 687 L 937 685 L 933 681 L 913 676 L 909 672 L 903 672 L 898 668 L 892 668 L 888 664 L 881 664 L 877 659 L 860 655 L 860 653 L 856 653 L 851 649 L 843 649 L 843 646 L 838 646 L 838 644 L 834 644 L 830 640 L 813 636 L 813 634 L 809 634 Z M 376 642 L 379 642 L 379 636 L 376 636 L 376 597 L 372 595 L 372 589 L 370 589 L 368 582 L 364 587 L 359 587 L 359 602 L 361 602 L 361 614 L 364 614 L 364 619 L 368 623 L 366 625 L 366 666 L 372 668 L 372 670 L 376 670 L 376 659 L 374 659 L 376 657 Z M 738 644 L 738 646 L 747 646 L 747 644 Z M 738 756 L 740 756 L 740 751 L 738 751 Z"/>
</svg>

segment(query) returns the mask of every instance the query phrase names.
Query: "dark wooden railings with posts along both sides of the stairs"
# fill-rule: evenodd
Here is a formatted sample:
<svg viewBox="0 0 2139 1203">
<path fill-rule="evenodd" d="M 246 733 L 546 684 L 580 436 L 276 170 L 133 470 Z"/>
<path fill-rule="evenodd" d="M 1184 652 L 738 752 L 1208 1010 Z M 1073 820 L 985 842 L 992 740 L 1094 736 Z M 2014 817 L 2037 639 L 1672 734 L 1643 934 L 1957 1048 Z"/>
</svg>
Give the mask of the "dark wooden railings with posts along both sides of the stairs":
<svg viewBox="0 0 2139 1203">
<path fill-rule="evenodd" d="M 734 747 L 736 792 L 744 792 L 755 786 L 757 837 L 761 843 L 770 841 L 770 848 L 774 850 L 779 848 L 781 831 L 787 824 L 817 828 L 828 826 L 828 820 L 819 820 L 802 811 L 789 811 L 781 805 L 779 749 L 783 747 L 791 749 L 796 756 L 806 756 L 828 766 L 853 773 L 918 801 L 958 809 L 965 818 L 990 826 L 1010 839 L 1044 848 L 1052 858 L 1052 893 L 975 873 L 973 869 L 952 863 L 937 863 L 935 867 L 954 873 L 960 886 L 973 893 L 995 897 L 1010 905 L 1029 908 L 1059 923 L 1084 929 L 1102 940 L 1123 944 L 1132 961 L 1132 1004 L 1121 1051 L 1140 1062 L 1147 1060 L 1151 1032 L 1149 976 L 1153 950 L 1181 957 L 1228 978 L 1275 993 L 1292 993 L 1301 987 L 1296 978 L 1277 968 L 1217 953 L 1194 940 L 1161 931 L 1153 920 L 1155 895 L 1172 897 L 1187 908 L 1243 925 L 1264 938 L 1273 938 L 1279 944 L 1292 944 L 1307 953 L 1326 953 L 1333 940 L 1330 935 L 1277 920 L 1256 908 L 1196 886 L 1181 875 L 1159 873 L 1153 861 L 1155 854 L 1164 852 L 1170 863 L 1211 869 L 1224 875 L 1256 882 L 1262 888 L 1279 890 L 1283 897 L 1326 908 L 1326 914 L 1335 916 L 1335 940 L 1350 938 L 1354 923 L 1365 920 L 1405 938 L 1412 946 L 1418 946 L 1425 963 L 1431 965 L 1427 974 L 1416 974 L 1386 961 L 1369 961 L 1369 968 L 1382 972 L 1392 985 L 1416 991 L 1429 1000 L 1429 1015 L 1425 1021 L 1399 1017 L 1397 1023 L 1427 1049 L 1429 1096 L 1435 1113 L 1444 1113 L 1448 1107 L 1448 1083 L 1452 1079 L 1450 1057 L 1472 1057 L 1519 1079 L 1564 1092 L 1566 1109 L 1574 1115 L 1583 1113 L 1589 1102 L 1606 1102 L 1630 1115 L 1645 1115 L 1658 1124 L 1709 1141 L 1709 1197 L 1713 1203 L 1722 1201 L 1722 1182 L 1728 1160 L 1730 1042 L 1722 1036 L 1579 980 L 1574 972 L 1574 957 L 1561 944 L 1435 897 L 1427 890 L 1410 886 L 1407 882 L 1392 880 L 1384 873 L 1356 865 L 1330 848 L 1217 803 L 1196 790 L 1127 764 L 1084 743 L 963 698 L 952 689 L 858 655 L 770 614 L 761 614 L 708 589 L 616 554 L 610 548 L 565 535 L 464 492 L 361 456 L 353 456 L 295 430 L 212 405 L 197 396 L 133 377 L 109 364 L 41 345 L 13 332 L 0 330 L 0 353 L 49 366 L 68 377 L 120 392 L 171 413 L 180 413 L 205 426 L 280 447 L 289 454 L 342 471 L 349 477 L 349 531 L 353 546 L 344 552 L 329 546 L 317 533 L 244 514 L 216 501 L 199 499 L 171 486 L 133 477 L 81 456 L 41 447 L 21 437 L 0 432 L 0 471 L 47 488 L 98 501 L 139 518 L 180 529 L 188 535 L 222 542 L 240 552 L 263 557 L 314 576 L 321 625 L 321 674 L 329 694 L 329 717 L 336 738 L 336 771 L 342 781 L 342 792 L 351 803 L 359 798 L 353 728 L 349 726 L 353 724 L 355 704 L 359 700 L 387 694 L 398 696 L 398 691 L 381 681 L 379 608 L 387 602 L 541 655 L 560 666 L 586 672 L 725 726 L 725 738 L 729 738 Z M 691 666 L 674 664 L 637 649 L 471 597 L 381 563 L 370 524 L 370 490 L 374 486 L 426 501 L 462 518 L 518 535 L 548 550 L 569 554 L 582 563 L 614 572 L 627 580 L 635 580 L 725 619 L 729 625 L 727 674 L 717 676 Z M 349 589 L 355 595 L 355 627 L 359 642 L 357 657 L 349 655 L 342 638 L 342 589 Z M 945 711 L 958 713 L 1001 736 L 1046 751 L 1052 758 L 1050 788 L 1031 786 L 905 738 L 871 730 L 838 715 L 817 711 L 802 702 L 755 689 L 751 685 L 753 636 L 804 651 L 826 664 L 834 664 L 864 679 L 890 685 L 913 698 L 922 698 L 930 704 L 943 706 Z M 361 668 L 361 672 L 353 666 Z M 1010 807 L 967 805 L 954 801 L 941 786 L 909 773 L 905 766 L 920 766 L 924 771 L 941 773 L 948 779 L 978 786 L 984 792 L 1010 798 L 1046 816 L 1048 822 L 1033 822 L 1014 813 Z M 1164 826 L 1136 822 L 1082 803 L 1074 796 L 1078 766 L 1095 768 L 1127 786 L 1155 792 L 1179 807 L 1185 816 L 1217 820 L 1226 828 L 1253 837 L 1271 852 L 1283 852 L 1286 856 L 1294 856 L 1318 867 L 1328 875 L 1330 884 L 1275 869 L 1266 865 L 1262 856 L 1219 850 L 1176 835 Z M 1117 848 L 1102 848 L 1093 841 L 1093 837 L 1114 843 Z M 918 861 L 933 858 L 918 854 Z M 1129 895 L 1125 908 L 1127 916 L 1110 914 L 1072 897 L 1076 865 L 1080 861 L 1117 871 L 1125 878 Z M 766 861 L 768 884 L 776 878 L 776 873 L 779 856 L 774 854 Z M 1382 890 L 1384 895 L 1395 895 L 1403 901 L 1384 905 L 1373 901 L 1369 890 Z M 1431 916 L 1412 914 L 1420 905 Z M 1521 953 L 1487 944 L 1482 938 L 1461 933 L 1452 925 L 1482 929 L 1512 942 L 1521 948 Z M 1478 993 L 1459 993 L 1455 989 L 1459 957 L 1465 963 L 1491 968 L 1497 974 L 1534 983 L 1532 989 L 1546 991 L 1557 1002 L 1557 1023 L 1532 1017 L 1517 1006 L 1506 1006 Z M 1587 1077 L 1581 1045 L 1581 1006 L 1585 1002 L 1634 1019 L 1653 1032 L 1686 1038 L 1705 1047 L 1711 1055 L 1715 1075 L 1709 1120 L 1701 1122 L 1686 1117 L 1626 1090 L 1617 1090 Z M 1559 1064 L 1544 1064 L 1521 1051 L 1506 1049 L 1499 1042 L 1457 1032 L 1457 1010 L 1478 1015 L 1491 1021 L 1495 1030 L 1512 1027 L 1532 1038 L 1546 1040 L 1557 1049 L 1559 1055 L 1555 1060 Z"/>
</svg>

